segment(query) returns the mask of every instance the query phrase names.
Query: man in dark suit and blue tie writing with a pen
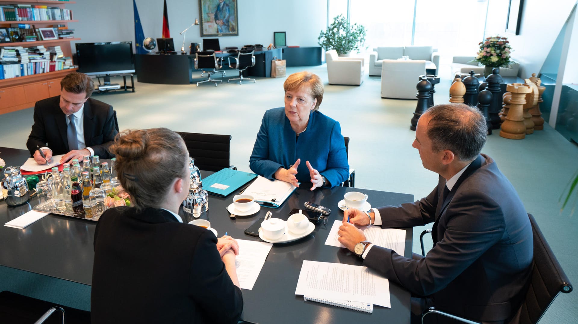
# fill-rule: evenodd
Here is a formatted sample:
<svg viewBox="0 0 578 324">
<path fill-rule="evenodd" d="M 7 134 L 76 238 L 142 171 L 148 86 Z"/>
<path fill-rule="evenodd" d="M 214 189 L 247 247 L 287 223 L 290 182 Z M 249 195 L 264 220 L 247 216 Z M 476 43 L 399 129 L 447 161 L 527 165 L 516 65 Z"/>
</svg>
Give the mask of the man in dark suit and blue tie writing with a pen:
<svg viewBox="0 0 578 324">
<path fill-rule="evenodd" d="M 60 96 L 34 106 L 34 125 L 26 143 L 34 160 L 45 164 L 60 154 L 64 154 L 60 163 L 82 160 L 84 155 L 112 157 L 108 148 L 118 133 L 112 106 L 90 98 L 94 82 L 84 73 L 68 74 L 60 86 Z"/>
</svg>

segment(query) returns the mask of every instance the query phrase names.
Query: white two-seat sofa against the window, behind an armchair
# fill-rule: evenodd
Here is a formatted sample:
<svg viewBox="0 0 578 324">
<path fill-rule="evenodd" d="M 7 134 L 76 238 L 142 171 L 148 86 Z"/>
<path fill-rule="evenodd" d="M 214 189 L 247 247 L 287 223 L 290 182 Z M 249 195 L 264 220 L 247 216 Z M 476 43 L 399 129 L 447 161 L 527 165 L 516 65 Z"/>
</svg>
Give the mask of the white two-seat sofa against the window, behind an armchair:
<svg viewBox="0 0 578 324">
<path fill-rule="evenodd" d="M 424 60 L 435 64 L 439 69 L 439 54 L 432 46 L 398 46 L 377 47 L 369 54 L 369 75 L 381 76 L 381 65 L 384 59 L 398 59 L 409 56 L 409 59 Z M 425 72 L 424 72 L 425 73 Z"/>
</svg>

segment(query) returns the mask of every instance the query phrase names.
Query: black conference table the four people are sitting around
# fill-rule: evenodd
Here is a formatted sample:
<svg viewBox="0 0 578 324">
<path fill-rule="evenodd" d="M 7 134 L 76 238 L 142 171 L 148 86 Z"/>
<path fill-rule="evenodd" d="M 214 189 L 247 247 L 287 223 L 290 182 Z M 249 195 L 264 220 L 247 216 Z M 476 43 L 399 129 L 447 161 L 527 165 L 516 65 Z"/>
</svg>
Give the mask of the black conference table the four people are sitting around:
<svg viewBox="0 0 578 324">
<path fill-rule="evenodd" d="M 7 166 L 21 165 L 29 157 L 27 150 L 0 147 L 0 157 Z M 212 172 L 201 172 L 207 176 Z M 413 195 L 389 193 L 358 188 L 336 187 L 334 189 L 307 188 L 296 190 L 280 208 L 264 208 L 253 216 L 232 220 L 225 210 L 232 196 L 209 197 L 209 211 L 205 216 L 211 227 L 222 236 L 225 232 L 236 239 L 260 240 L 245 235 L 244 229 L 271 210 L 273 217 L 287 220 L 292 208 L 303 208 L 312 201 L 331 208 L 327 225 L 317 224 L 306 238 L 286 244 L 274 244 L 252 290 L 243 289 L 244 308 L 242 319 L 254 323 L 409 323 L 410 293 L 390 281 L 391 308 L 375 306 L 373 314 L 346 308 L 305 302 L 303 296 L 295 295 L 295 287 L 303 260 L 347 263 L 361 265 L 362 260 L 345 248 L 325 245 L 334 220 L 341 219 L 343 212 L 337 204 L 347 191 L 368 194 L 372 206 L 397 205 L 413 201 Z M 36 198 L 26 205 L 9 207 L 0 202 L 0 265 L 28 272 L 44 274 L 90 285 L 92 242 L 97 222 L 80 218 L 50 214 L 25 229 L 2 226 L 24 214 L 36 204 Z M 179 212 L 183 216 L 182 209 Z M 186 218 L 183 218 L 186 220 Z M 406 228 L 405 256 L 412 255 L 412 228 Z M 183 247 L 186 248 L 186 247 Z"/>
</svg>

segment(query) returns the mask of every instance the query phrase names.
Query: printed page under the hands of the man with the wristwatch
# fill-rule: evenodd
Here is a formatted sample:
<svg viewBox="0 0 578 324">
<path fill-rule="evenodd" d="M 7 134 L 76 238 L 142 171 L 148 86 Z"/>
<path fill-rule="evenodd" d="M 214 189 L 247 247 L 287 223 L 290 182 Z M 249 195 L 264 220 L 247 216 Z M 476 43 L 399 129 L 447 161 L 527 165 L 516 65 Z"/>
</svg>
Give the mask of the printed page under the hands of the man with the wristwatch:
<svg viewBox="0 0 578 324">
<path fill-rule="evenodd" d="M 342 224 L 340 220 L 334 221 L 329 236 L 325 240 L 325 245 L 344 247 L 343 244 L 339 243 L 339 235 L 337 234 Z M 369 242 L 377 246 L 391 248 L 399 255 L 405 253 L 405 229 L 381 228 L 379 226 L 363 226 L 361 229 Z"/>
</svg>

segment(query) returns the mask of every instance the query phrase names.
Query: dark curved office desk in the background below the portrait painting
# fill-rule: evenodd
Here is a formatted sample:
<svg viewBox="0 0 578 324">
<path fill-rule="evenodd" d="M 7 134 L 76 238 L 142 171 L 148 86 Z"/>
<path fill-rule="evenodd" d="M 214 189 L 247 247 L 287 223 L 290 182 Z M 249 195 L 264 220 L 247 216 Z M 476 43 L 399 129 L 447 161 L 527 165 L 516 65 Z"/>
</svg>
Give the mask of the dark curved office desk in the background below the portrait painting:
<svg viewBox="0 0 578 324">
<path fill-rule="evenodd" d="M 247 74 L 243 76 L 255 77 L 270 77 L 271 76 L 271 61 L 273 57 L 281 58 L 283 52 L 281 48 L 275 50 L 255 51 L 255 66 L 249 67 L 246 70 Z M 218 58 L 224 58 L 223 70 L 231 71 L 230 77 L 238 77 L 238 73 L 234 69 L 230 69 L 228 65 L 227 56 L 234 57 L 237 54 L 229 54 L 227 52 L 217 53 Z M 194 71 L 201 71 L 195 69 L 195 55 L 194 54 L 136 54 L 135 55 L 135 70 L 139 82 L 155 83 L 155 84 L 191 84 L 192 82 L 201 81 L 192 77 Z M 229 73 L 227 74 L 229 77 Z"/>
</svg>

